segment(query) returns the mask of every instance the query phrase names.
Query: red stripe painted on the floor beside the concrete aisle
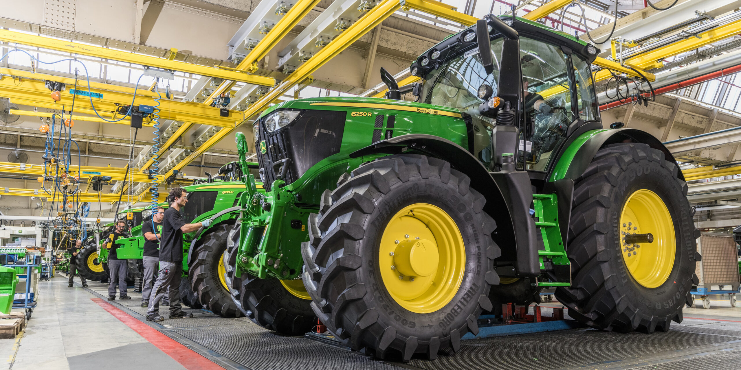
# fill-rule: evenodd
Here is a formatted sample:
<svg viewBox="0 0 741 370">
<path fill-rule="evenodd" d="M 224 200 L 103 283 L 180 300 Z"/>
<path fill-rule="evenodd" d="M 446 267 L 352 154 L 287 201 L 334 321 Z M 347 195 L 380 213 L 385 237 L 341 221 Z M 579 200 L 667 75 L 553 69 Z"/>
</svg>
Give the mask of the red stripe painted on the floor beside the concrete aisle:
<svg viewBox="0 0 741 370">
<path fill-rule="evenodd" d="M 133 329 L 134 332 L 139 333 L 139 335 L 144 337 L 144 339 L 149 341 L 149 343 L 152 343 L 154 346 L 165 352 L 168 356 L 173 357 L 173 360 L 176 360 L 178 363 L 180 363 L 180 365 L 185 367 L 185 369 L 224 370 L 224 368 L 216 365 L 216 363 L 211 362 L 198 352 L 193 351 L 186 346 L 183 346 L 181 343 L 173 340 L 173 338 L 167 337 L 167 335 L 162 334 L 157 329 L 154 329 L 153 327 L 142 323 L 142 321 L 136 320 L 135 318 L 131 317 L 130 314 L 123 312 L 121 309 L 118 309 L 116 306 L 107 303 L 101 298 L 90 299 L 93 300 L 95 303 L 98 303 L 99 306 L 101 306 L 109 314 L 112 314 L 113 317 L 121 320 L 122 323 Z"/>
</svg>

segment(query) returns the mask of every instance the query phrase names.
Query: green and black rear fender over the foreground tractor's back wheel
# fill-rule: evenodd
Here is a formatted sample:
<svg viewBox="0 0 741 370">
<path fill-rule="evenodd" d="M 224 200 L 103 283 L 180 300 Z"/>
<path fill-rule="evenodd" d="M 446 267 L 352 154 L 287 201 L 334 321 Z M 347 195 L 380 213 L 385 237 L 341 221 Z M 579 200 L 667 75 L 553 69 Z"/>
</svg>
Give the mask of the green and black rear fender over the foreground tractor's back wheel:
<svg viewBox="0 0 741 370">
<path fill-rule="evenodd" d="M 667 161 L 675 162 L 674 155 L 654 135 L 639 129 L 594 129 L 584 132 L 566 148 L 554 166 L 548 181 L 557 181 L 562 178 L 572 180 L 584 173 L 599 148 L 617 143 L 642 143 L 664 152 Z M 677 176 L 684 180 L 682 171 Z"/>
</svg>

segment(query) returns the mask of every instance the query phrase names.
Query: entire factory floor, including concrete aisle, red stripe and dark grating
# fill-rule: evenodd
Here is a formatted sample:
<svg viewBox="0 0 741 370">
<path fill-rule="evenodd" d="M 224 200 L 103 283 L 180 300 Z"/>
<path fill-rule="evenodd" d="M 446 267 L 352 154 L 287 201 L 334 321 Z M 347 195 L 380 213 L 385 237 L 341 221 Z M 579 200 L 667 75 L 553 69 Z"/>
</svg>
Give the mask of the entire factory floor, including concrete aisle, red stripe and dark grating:
<svg viewBox="0 0 741 370">
<path fill-rule="evenodd" d="M 242 318 L 186 309 L 195 317 L 151 323 L 132 300 L 104 299 L 107 284 L 57 275 L 39 282 L 39 306 L 16 339 L 0 340 L 0 369 L 739 369 L 741 307 L 727 296 L 684 309 L 667 333 L 588 328 L 463 340 L 453 354 L 408 363 L 377 360 L 307 337 L 282 337 Z M 544 307 L 558 307 L 557 302 Z M 167 317 L 167 307 L 161 312 Z"/>
</svg>

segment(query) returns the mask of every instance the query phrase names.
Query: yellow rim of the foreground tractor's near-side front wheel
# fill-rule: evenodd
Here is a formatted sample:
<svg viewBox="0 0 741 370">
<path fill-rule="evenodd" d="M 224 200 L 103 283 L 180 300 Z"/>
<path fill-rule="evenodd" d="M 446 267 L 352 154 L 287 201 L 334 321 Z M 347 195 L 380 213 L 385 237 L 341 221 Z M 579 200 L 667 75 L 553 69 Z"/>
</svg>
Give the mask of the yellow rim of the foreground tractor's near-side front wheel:
<svg viewBox="0 0 741 370">
<path fill-rule="evenodd" d="M 381 236 L 379 269 L 399 306 L 420 314 L 442 309 L 465 274 L 465 245 L 455 221 L 438 206 L 414 203 L 393 215 Z"/>
</svg>

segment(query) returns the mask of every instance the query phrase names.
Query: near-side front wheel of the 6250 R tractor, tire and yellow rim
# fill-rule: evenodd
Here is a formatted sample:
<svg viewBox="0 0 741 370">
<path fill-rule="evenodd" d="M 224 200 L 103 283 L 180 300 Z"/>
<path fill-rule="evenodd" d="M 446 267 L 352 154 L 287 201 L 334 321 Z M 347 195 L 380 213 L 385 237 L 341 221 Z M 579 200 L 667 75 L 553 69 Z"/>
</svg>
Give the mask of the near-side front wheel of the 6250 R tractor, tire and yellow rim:
<svg viewBox="0 0 741 370">
<path fill-rule="evenodd" d="M 458 351 L 464 334 L 479 332 L 500 252 L 469 182 L 446 161 L 390 155 L 325 192 L 302 254 L 311 307 L 330 332 L 405 361 Z"/>
</svg>

